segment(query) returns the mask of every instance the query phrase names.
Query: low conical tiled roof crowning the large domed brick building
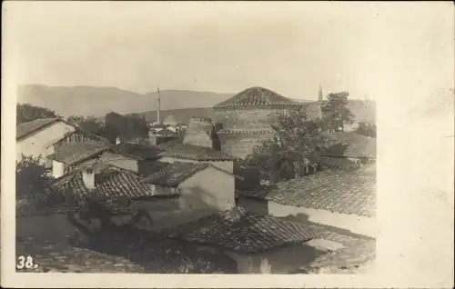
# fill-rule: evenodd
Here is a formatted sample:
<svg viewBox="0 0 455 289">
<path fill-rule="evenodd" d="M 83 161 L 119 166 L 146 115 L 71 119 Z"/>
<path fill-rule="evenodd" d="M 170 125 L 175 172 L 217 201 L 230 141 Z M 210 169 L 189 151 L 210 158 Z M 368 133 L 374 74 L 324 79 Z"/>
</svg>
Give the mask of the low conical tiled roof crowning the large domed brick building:
<svg viewBox="0 0 455 289">
<path fill-rule="evenodd" d="M 293 100 L 283 95 L 278 95 L 267 88 L 250 87 L 237 95 L 232 96 L 226 101 L 215 105 L 216 108 L 227 106 L 267 106 L 267 105 L 299 105 Z"/>
</svg>

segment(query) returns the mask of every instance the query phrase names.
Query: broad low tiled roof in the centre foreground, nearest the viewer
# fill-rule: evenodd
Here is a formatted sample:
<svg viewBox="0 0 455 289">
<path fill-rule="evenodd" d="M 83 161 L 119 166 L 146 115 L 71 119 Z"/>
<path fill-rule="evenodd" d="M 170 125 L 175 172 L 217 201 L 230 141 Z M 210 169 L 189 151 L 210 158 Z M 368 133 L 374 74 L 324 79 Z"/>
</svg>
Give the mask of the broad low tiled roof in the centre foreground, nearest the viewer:
<svg viewBox="0 0 455 289">
<path fill-rule="evenodd" d="M 187 242 L 214 245 L 240 253 L 265 251 L 315 237 L 306 224 L 283 221 L 271 215 L 251 214 L 240 207 L 181 224 L 169 229 L 166 234 Z"/>
</svg>

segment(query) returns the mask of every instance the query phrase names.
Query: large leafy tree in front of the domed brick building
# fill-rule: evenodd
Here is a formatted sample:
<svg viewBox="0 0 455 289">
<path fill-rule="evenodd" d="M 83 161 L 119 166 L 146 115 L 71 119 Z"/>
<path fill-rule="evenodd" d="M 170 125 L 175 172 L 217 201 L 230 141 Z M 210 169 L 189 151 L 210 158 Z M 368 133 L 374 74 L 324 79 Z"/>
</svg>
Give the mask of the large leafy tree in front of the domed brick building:
<svg viewBox="0 0 455 289">
<path fill-rule="evenodd" d="M 295 177 L 309 174 L 317 169 L 320 152 L 328 144 L 322 126 L 322 121 L 309 120 L 302 109 L 280 115 L 277 125 L 272 125 L 275 136 L 258 146 L 248 163 L 268 174 L 272 184 L 289 171 Z"/>
</svg>

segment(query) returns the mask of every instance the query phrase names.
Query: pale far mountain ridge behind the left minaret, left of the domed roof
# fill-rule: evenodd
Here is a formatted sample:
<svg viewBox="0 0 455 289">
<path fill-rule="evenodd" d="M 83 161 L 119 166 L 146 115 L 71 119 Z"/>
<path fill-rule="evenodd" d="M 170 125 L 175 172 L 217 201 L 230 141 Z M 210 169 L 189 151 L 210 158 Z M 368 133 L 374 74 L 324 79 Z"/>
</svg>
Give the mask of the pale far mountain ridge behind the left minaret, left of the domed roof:
<svg viewBox="0 0 455 289">
<path fill-rule="evenodd" d="M 160 96 L 161 109 L 167 110 L 211 107 L 232 95 L 163 90 Z M 63 116 L 104 116 L 112 111 L 131 114 L 155 110 L 157 93 L 137 94 L 116 87 L 21 85 L 17 102 L 47 107 Z"/>
</svg>

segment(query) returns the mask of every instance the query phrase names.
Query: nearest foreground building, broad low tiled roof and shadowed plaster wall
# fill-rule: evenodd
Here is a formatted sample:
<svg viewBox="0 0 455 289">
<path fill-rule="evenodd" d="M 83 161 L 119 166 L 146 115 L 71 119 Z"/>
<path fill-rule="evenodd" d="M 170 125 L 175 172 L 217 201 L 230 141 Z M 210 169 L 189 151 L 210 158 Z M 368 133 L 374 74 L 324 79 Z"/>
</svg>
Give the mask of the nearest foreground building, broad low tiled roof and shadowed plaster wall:
<svg viewBox="0 0 455 289">
<path fill-rule="evenodd" d="M 239 274 L 284 274 L 325 253 L 305 244 L 316 237 L 308 225 L 248 213 L 240 207 L 164 232 L 197 244 L 198 251 L 227 254 L 238 263 Z"/>
</svg>

